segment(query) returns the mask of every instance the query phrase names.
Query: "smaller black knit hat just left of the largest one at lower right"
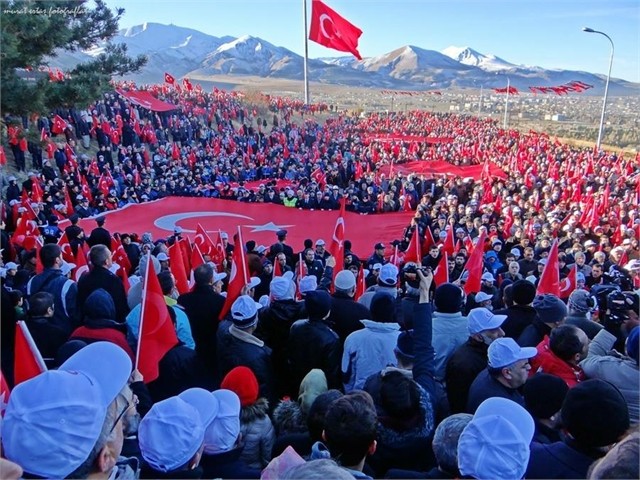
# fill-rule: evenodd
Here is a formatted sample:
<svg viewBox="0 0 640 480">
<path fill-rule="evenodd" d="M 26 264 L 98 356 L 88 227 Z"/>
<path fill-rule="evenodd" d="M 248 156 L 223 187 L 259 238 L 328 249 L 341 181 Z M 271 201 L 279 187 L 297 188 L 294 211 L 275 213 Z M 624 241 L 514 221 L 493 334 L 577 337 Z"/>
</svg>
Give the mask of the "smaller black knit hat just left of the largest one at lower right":
<svg viewBox="0 0 640 480">
<path fill-rule="evenodd" d="M 536 418 L 551 418 L 562 408 L 569 387 L 548 373 L 536 373 L 524 384 L 524 406 Z"/>
</svg>

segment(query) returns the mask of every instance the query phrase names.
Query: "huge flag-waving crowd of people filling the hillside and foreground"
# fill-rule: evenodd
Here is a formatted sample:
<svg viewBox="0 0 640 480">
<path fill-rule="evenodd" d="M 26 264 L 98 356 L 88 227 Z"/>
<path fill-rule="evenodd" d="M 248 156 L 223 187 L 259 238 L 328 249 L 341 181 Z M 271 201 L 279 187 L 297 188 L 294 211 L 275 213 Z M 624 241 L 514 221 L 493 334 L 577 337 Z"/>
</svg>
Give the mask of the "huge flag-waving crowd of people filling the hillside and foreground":
<svg viewBox="0 0 640 480">
<path fill-rule="evenodd" d="M 3 477 L 638 477 L 637 159 L 469 116 L 321 124 L 326 106 L 269 97 L 260 115 L 233 92 L 145 88 L 180 110 L 108 94 L 29 124 L 44 140 L 26 146 L 11 124 L 33 171 L 2 172 Z M 367 258 L 222 233 L 180 291 L 179 227 L 154 239 L 101 215 L 169 195 L 414 215 L 393 246 L 358 246 Z M 554 247 L 566 298 L 538 292 Z M 237 249 L 251 277 L 219 321 Z M 135 368 L 147 269 L 179 340 L 152 381 Z M 48 368 L 24 381 L 18 321 Z"/>
</svg>

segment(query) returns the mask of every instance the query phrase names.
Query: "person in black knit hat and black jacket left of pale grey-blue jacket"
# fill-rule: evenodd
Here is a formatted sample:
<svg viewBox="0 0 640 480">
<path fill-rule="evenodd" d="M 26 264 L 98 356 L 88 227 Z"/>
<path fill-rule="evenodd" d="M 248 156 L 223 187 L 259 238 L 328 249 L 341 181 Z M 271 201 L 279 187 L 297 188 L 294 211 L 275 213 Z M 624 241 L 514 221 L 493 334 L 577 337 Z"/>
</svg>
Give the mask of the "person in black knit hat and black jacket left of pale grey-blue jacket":
<svg viewBox="0 0 640 480">
<path fill-rule="evenodd" d="M 327 377 L 329 388 L 342 388 L 342 342 L 328 324 L 331 297 L 322 290 L 307 292 L 305 307 L 308 320 L 298 320 L 289 332 L 289 364 L 294 389 L 313 368 Z"/>
</svg>

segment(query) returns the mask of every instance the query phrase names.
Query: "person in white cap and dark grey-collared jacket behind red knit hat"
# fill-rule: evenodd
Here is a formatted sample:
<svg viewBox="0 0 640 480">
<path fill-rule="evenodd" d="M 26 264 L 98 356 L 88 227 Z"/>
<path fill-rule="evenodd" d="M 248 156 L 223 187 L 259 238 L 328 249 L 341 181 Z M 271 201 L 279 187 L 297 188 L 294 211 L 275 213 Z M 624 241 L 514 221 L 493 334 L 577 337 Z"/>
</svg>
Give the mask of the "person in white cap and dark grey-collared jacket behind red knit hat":
<svg viewBox="0 0 640 480">
<path fill-rule="evenodd" d="M 258 379 L 260 396 L 274 405 L 277 399 L 271 349 L 253 333 L 262 305 L 249 295 L 239 296 L 231 306 L 231 323 L 222 323 L 218 332 L 218 373 L 220 378 L 239 366 L 250 368 Z"/>
</svg>

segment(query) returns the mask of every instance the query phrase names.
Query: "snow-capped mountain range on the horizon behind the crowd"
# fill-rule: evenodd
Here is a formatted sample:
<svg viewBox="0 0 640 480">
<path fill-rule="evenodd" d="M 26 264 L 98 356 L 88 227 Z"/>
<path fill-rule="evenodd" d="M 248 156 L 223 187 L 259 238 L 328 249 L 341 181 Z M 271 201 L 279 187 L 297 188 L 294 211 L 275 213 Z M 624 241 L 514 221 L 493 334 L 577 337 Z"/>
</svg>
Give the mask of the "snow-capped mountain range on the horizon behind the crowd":
<svg viewBox="0 0 640 480">
<path fill-rule="evenodd" d="M 121 30 L 113 43 L 125 43 L 132 55 L 144 54 L 143 71 L 126 78 L 137 82 L 161 82 L 164 72 L 176 78 L 254 76 L 303 79 L 303 57 L 261 38 L 245 35 L 214 37 L 190 28 L 145 23 Z M 72 68 L 103 51 L 58 52 L 50 65 Z M 594 88 L 586 94 L 602 94 L 606 77 L 583 71 L 553 70 L 510 63 L 470 47 L 448 47 L 442 52 L 406 45 L 383 55 L 357 60 L 349 57 L 309 59 L 309 80 L 325 84 L 398 90 L 557 86 L 581 81 Z M 612 95 L 637 95 L 640 84 L 611 79 Z"/>
</svg>

